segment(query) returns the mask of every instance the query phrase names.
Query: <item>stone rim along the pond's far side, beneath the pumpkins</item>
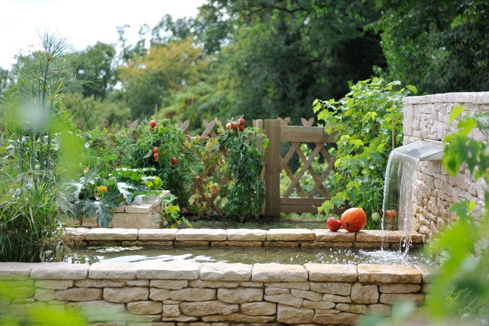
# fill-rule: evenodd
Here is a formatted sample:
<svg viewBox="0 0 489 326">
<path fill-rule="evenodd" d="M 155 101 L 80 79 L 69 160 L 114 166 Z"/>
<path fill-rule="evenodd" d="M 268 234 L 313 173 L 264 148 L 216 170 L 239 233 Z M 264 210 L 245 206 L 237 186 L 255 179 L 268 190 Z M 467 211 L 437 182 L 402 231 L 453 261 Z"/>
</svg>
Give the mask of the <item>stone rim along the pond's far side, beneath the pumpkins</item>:
<svg viewBox="0 0 489 326">
<path fill-rule="evenodd" d="M 85 229 L 67 228 L 70 240 L 88 245 L 252 245 L 397 248 L 402 231 L 363 230 L 337 232 L 328 229 Z M 422 236 L 411 234 L 412 247 L 422 245 Z"/>
</svg>

